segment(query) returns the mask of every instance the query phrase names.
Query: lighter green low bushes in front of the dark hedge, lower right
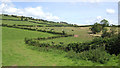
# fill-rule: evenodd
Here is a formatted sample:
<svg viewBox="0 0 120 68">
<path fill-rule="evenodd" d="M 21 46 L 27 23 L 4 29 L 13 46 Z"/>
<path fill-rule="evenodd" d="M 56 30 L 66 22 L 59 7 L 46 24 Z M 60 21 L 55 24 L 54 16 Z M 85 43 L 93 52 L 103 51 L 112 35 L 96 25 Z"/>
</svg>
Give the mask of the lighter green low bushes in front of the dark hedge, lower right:
<svg viewBox="0 0 120 68">
<path fill-rule="evenodd" d="M 83 60 L 90 60 L 93 62 L 99 62 L 99 63 L 106 63 L 110 59 L 110 54 L 108 54 L 104 47 L 99 47 L 97 49 L 91 49 L 88 51 L 84 51 L 81 53 L 75 53 L 74 51 L 68 52 L 66 55 L 69 58 L 76 58 L 76 59 L 83 59 Z"/>
</svg>

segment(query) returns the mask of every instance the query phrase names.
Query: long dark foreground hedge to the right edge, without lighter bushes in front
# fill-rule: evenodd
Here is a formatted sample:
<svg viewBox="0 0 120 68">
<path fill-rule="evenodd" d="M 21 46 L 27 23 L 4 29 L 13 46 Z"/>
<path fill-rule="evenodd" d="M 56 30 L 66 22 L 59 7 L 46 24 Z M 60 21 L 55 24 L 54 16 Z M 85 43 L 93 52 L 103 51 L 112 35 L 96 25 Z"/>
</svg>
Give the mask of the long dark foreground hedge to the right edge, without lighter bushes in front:
<svg viewBox="0 0 120 68">
<path fill-rule="evenodd" d="M 53 38 L 53 37 L 51 37 Z M 49 38 L 46 38 L 49 39 Z M 105 50 L 110 54 L 118 55 L 120 54 L 120 34 L 119 37 L 115 36 L 112 38 L 96 38 L 90 42 L 86 43 L 70 43 L 66 46 L 63 46 L 63 44 L 49 44 L 49 43 L 40 43 L 35 39 L 25 39 L 25 43 L 28 45 L 33 46 L 40 46 L 40 47 L 55 47 L 55 48 L 62 48 L 65 51 L 71 51 L 73 50 L 76 53 L 80 53 L 83 51 L 88 51 L 90 49 L 96 49 L 99 47 L 105 47 Z"/>
</svg>

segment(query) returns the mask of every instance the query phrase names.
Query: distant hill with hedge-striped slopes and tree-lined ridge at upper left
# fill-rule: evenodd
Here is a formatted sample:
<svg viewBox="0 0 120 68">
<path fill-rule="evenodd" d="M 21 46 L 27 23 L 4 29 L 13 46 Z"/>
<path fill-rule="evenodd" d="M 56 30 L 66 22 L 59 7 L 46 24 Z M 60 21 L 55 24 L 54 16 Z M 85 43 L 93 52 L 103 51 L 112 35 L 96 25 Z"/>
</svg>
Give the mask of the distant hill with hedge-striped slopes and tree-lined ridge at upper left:
<svg viewBox="0 0 120 68">
<path fill-rule="evenodd" d="M 8 15 L 1 14 L 2 24 L 9 25 L 38 25 L 40 27 L 76 27 L 76 24 L 68 24 L 67 22 L 54 22 L 47 21 L 43 19 L 35 19 L 32 17 L 17 16 L 17 15 Z"/>
</svg>

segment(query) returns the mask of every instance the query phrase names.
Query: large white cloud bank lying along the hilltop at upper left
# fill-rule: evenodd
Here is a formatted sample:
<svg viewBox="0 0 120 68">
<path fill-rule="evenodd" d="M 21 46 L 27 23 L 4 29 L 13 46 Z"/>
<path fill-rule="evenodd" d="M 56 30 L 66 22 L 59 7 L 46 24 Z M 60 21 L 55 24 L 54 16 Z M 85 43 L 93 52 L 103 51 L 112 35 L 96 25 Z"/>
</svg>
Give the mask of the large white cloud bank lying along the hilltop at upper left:
<svg viewBox="0 0 120 68">
<path fill-rule="evenodd" d="M 2 10 L 2 11 L 1 11 Z M 45 20 L 58 21 L 58 16 L 53 16 L 52 13 L 44 12 L 41 6 L 38 7 L 26 7 L 26 8 L 16 8 L 13 5 L 8 5 L 8 3 L 2 3 L 0 5 L 0 13 L 13 14 L 20 16 L 30 16 L 34 18 L 41 18 Z"/>
</svg>

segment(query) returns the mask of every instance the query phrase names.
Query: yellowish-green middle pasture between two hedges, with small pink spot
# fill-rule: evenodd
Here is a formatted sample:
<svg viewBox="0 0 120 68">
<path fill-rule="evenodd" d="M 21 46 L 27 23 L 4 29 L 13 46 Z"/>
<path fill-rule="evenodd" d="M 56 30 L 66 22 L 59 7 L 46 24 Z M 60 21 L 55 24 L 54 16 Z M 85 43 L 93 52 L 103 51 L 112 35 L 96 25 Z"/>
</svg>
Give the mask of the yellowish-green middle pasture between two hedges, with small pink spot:
<svg viewBox="0 0 120 68">
<path fill-rule="evenodd" d="M 89 35 L 89 27 L 39 27 L 39 29 L 42 30 L 51 30 L 55 32 L 62 32 L 62 30 L 65 31 L 67 34 L 74 34 L 77 35 L 77 37 L 66 37 L 66 38 L 57 38 L 57 39 L 51 39 L 51 40 L 45 40 L 40 41 L 41 43 L 51 43 L 55 42 L 55 44 L 58 44 L 59 42 L 63 42 L 64 44 L 69 44 L 71 42 L 86 42 L 93 39 L 92 36 Z"/>
</svg>

